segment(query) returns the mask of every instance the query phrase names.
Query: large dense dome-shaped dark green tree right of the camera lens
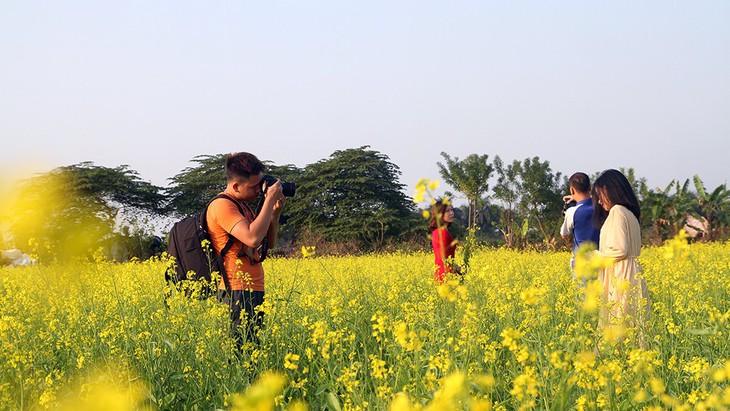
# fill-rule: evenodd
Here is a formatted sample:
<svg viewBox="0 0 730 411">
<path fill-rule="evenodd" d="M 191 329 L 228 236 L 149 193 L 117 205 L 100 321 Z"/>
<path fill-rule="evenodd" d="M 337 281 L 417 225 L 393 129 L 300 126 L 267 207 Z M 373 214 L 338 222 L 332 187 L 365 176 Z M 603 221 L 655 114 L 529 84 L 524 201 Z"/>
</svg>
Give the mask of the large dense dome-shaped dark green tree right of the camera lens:
<svg viewBox="0 0 730 411">
<path fill-rule="evenodd" d="M 378 250 L 414 227 L 399 176 L 398 166 L 369 146 L 335 151 L 304 168 L 290 221 L 327 241 Z"/>
</svg>

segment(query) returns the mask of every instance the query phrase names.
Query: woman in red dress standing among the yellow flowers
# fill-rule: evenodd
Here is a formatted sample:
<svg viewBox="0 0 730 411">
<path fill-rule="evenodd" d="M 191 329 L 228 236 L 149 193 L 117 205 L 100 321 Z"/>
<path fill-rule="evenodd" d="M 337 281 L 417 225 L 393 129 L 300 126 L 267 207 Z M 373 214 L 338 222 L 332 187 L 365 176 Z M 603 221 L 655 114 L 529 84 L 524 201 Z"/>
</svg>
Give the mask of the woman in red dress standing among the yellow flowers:
<svg viewBox="0 0 730 411">
<path fill-rule="evenodd" d="M 446 273 L 459 273 L 459 266 L 454 264 L 456 254 L 456 242 L 449 233 L 449 226 L 454 222 L 454 209 L 451 204 L 438 200 L 431 207 L 431 222 L 428 229 L 431 231 L 431 245 L 435 255 L 436 271 L 433 274 L 434 280 L 442 284 Z"/>
</svg>

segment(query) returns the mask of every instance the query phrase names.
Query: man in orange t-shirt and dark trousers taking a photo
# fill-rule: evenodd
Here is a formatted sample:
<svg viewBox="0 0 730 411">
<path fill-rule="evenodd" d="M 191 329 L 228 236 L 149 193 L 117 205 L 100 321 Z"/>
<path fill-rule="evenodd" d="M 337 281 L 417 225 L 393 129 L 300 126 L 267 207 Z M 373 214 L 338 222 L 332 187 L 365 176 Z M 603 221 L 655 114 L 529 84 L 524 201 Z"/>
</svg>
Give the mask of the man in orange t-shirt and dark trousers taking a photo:
<svg viewBox="0 0 730 411">
<path fill-rule="evenodd" d="M 225 198 L 213 200 L 208 206 L 206 220 L 216 253 L 221 252 L 229 238 L 233 245 L 224 257 L 230 291 L 221 276 L 218 299 L 231 307 L 231 333 L 240 345 L 243 340 L 239 327 L 244 322 L 246 340 L 257 341 L 256 331 L 263 324 L 264 314 L 257 310 L 264 302 L 264 268 L 258 248 L 268 236 L 268 244 L 276 244 L 279 216 L 286 202 L 281 181 L 263 187 L 265 197 L 261 211 L 255 215 L 246 204 L 257 201 L 262 191 L 261 179 L 266 166 L 251 153 L 229 154 L 226 158 L 227 185 Z M 243 211 L 243 214 L 241 211 Z M 246 315 L 241 318 L 241 311 Z"/>
</svg>

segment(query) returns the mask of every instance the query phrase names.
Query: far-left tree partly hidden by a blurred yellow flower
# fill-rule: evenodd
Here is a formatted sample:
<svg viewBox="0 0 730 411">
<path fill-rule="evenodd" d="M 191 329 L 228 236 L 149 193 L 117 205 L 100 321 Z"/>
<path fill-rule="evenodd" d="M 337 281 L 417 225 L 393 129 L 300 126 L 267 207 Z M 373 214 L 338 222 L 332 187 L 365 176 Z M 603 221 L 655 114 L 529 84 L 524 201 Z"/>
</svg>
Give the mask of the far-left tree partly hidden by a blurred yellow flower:
<svg viewBox="0 0 730 411">
<path fill-rule="evenodd" d="M 126 165 L 59 167 L 20 182 L 9 212 L 11 231 L 19 247 L 34 239 L 43 258 L 84 256 L 102 246 L 109 252 L 115 236 L 151 236 L 151 227 L 130 227 L 164 213 L 160 191 Z"/>
</svg>

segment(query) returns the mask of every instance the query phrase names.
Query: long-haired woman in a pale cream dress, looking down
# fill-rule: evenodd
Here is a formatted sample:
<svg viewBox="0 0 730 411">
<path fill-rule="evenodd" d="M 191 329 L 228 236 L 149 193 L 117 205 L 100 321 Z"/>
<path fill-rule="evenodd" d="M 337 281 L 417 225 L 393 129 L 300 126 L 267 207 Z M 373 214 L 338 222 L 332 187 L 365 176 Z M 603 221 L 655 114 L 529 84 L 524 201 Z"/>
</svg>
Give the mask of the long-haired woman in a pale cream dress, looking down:
<svg viewBox="0 0 730 411">
<path fill-rule="evenodd" d="M 641 328 L 649 313 L 649 293 L 641 266 L 639 201 L 626 177 L 617 170 L 604 171 L 593 183 L 593 224 L 601 230 L 597 254 L 613 260 L 602 270 L 603 301 L 598 327 Z"/>
</svg>

